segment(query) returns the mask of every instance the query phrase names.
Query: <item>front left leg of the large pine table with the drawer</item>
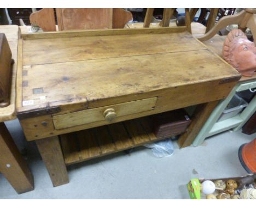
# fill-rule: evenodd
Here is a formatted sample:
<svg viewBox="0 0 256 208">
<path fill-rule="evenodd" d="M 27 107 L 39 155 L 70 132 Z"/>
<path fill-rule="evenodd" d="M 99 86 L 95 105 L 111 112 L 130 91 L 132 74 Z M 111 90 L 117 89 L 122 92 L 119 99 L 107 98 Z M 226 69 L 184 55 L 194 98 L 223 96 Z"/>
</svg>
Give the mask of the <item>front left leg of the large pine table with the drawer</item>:
<svg viewBox="0 0 256 208">
<path fill-rule="evenodd" d="M 53 186 L 68 183 L 66 164 L 61 151 L 59 137 L 49 137 L 36 140 L 38 150 L 53 182 Z"/>
</svg>

